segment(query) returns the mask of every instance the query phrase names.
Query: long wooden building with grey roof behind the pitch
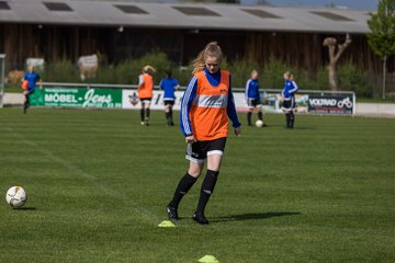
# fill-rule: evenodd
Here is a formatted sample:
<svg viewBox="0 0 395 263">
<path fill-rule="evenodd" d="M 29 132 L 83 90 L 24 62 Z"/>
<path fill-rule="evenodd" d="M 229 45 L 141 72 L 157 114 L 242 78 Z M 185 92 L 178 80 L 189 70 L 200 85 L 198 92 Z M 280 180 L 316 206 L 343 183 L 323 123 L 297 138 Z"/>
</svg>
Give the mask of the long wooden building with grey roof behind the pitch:
<svg viewBox="0 0 395 263">
<path fill-rule="evenodd" d="M 210 41 L 218 41 L 227 57 L 264 62 L 271 56 L 316 71 L 328 60 L 323 42 L 352 44 L 342 59 L 364 70 L 381 71 L 370 50 L 368 11 L 274 8 L 214 3 L 153 3 L 122 0 L 2 0 L 0 53 L 8 69 L 22 68 L 27 57 L 46 61 L 94 53 L 110 62 L 159 49 L 185 65 Z M 395 61 L 390 59 L 390 71 Z"/>
</svg>

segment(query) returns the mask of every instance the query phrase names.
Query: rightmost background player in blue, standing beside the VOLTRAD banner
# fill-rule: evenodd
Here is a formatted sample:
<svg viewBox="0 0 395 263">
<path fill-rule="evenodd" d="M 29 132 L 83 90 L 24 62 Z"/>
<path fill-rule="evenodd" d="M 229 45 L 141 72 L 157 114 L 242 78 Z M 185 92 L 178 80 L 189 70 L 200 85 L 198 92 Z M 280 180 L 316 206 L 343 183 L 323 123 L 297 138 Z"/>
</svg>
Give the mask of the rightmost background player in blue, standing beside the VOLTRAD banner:
<svg viewBox="0 0 395 263">
<path fill-rule="evenodd" d="M 293 75 L 290 71 L 284 73 L 284 89 L 282 90 L 283 106 L 282 110 L 285 113 L 286 128 L 293 128 L 295 122 L 294 108 L 295 108 L 295 93 L 298 91 L 296 82 L 293 80 Z"/>
</svg>

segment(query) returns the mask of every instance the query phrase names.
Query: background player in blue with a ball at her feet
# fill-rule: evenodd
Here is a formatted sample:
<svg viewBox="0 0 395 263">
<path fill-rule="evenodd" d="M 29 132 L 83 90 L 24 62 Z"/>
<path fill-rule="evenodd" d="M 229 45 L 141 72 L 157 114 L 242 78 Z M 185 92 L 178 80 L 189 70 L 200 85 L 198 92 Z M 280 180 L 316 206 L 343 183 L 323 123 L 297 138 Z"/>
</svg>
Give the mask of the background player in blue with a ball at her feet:
<svg viewBox="0 0 395 263">
<path fill-rule="evenodd" d="M 252 70 L 251 78 L 247 80 L 246 83 L 246 102 L 248 105 L 248 112 L 247 112 L 248 126 L 252 126 L 251 117 L 252 117 L 252 112 L 255 111 L 258 113 L 258 119 L 263 122 L 262 103 L 259 94 L 258 77 L 259 77 L 258 71 Z M 263 124 L 263 126 L 266 126 L 266 124 Z"/>
</svg>

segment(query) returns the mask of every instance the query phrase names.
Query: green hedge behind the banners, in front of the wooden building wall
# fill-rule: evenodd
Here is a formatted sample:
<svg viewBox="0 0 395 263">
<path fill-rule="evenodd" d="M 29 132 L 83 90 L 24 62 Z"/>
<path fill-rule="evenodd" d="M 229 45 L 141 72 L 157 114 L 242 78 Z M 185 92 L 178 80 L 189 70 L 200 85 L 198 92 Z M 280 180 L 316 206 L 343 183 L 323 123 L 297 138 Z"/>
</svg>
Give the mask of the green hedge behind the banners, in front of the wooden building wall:
<svg viewBox="0 0 395 263">
<path fill-rule="evenodd" d="M 137 59 L 125 60 L 117 65 L 110 65 L 105 57 L 100 57 L 100 67 L 94 78 L 81 81 L 78 66 L 70 60 L 60 60 L 45 66 L 45 71 L 40 72 L 43 80 L 47 82 L 88 82 L 110 84 L 137 84 L 138 75 L 145 65 L 151 65 L 157 72 L 154 75 L 155 83 L 158 84 L 167 70 L 172 70 L 173 77 L 181 85 L 187 85 L 190 79 L 190 67 L 179 67 L 170 61 L 166 54 L 153 52 Z M 235 88 L 244 88 L 249 79 L 252 69 L 259 71 L 261 88 L 282 89 L 283 72 L 291 71 L 295 76 L 300 89 L 303 90 L 328 90 L 328 72 L 321 67 L 316 73 L 301 70 L 292 65 L 286 65 L 272 57 L 266 65 L 247 59 L 228 61 L 223 59 L 222 68 L 232 72 L 232 83 Z M 339 65 L 338 78 L 341 90 L 354 91 L 358 96 L 369 98 L 372 95 L 372 87 L 369 84 L 368 75 L 358 70 L 358 67 L 350 61 Z M 5 91 L 20 91 L 19 84 L 7 84 Z"/>
</svg>

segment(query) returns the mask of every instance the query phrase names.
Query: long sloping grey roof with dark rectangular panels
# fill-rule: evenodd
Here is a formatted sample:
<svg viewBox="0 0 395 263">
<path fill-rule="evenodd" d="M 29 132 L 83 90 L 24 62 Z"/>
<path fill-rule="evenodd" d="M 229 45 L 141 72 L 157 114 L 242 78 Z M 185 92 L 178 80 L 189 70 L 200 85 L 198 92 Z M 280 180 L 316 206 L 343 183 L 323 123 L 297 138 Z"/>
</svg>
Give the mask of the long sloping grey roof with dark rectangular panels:
<svg viewBox="0 0 395 263">
<path fill-rule="evenodd" d="M 329 8 L 142 3 L 119 0 L 3 0 L 1 2 L 7 2 L 10 9 L 0 9 L 0 23 L 44 25 L 122 25 L 144 28 L 364 34 L 369 32 L 366 21 L 370 18 L 369 11 L 365 10 Z M 54 11 L 48 9 L 48 3 L 61 4 L 53 4 Z M 59 10 L 56 10 L 56 7 L 59 7 Z"/>
</svg>

